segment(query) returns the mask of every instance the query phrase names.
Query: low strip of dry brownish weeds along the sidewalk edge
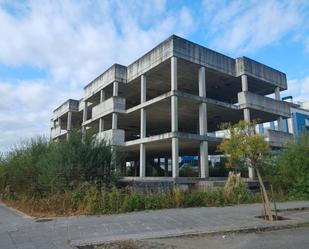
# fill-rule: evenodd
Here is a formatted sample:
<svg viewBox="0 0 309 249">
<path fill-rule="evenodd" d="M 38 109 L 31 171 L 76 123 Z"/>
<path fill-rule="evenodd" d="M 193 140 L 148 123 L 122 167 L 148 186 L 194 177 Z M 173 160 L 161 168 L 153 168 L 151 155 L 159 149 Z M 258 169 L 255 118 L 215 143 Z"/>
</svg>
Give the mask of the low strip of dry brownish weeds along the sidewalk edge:
<svg viewBox="0 0 309 249">
<path fill-rule="evenodd" d="M 162 193 L 144 194 L 131 188 L 98 189 L 95 184 L 83 184 L 74 190 L 54 193 L 42 198 L 17 196 L 15 199 L 5 199 L 5 201 L 35 216 L 115 214 L 162 208 L 225 206 L 260 201 L 259 195 L 254 195 L 245 188 L 238 189 L 238 193 L 242 194 L 227 196 L 223 188 L 215 190 L 176 188 Z"/>
</svg>

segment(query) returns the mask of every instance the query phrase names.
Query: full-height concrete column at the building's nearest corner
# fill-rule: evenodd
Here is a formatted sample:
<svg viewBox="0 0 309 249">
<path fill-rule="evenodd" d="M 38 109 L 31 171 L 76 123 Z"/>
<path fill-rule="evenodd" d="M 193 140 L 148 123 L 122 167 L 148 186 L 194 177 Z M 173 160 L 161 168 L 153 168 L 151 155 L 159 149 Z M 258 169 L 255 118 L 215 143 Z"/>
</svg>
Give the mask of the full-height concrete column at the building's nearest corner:
<svg viewBox="0 0 309 249">
<path fill-rule="evenodd" d="M 177 58 L 171 58 L 171 91 L 177 90 Z M 172 132 L 178 132 L 178 100 L 177 96 L 171 97 Z M 172 171 L 173 178 L 179 176 L 179 139 L 172 138 Z"/>
</svg>

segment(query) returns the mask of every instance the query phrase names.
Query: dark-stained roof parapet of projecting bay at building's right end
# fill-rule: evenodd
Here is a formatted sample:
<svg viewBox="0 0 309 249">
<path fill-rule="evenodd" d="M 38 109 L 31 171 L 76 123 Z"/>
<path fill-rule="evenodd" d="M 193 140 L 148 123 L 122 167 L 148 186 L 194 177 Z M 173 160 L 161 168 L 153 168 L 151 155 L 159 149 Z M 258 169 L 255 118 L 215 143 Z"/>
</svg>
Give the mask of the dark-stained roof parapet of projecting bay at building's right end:
<svg viewBox="0 0 309 249">
<path fill-rule="evenodd" d="M 271 83 L 280 87 L 280 90 L 287 89 L 285 73 L 257 61 L 251 60 L 247 57 L 240 57 L 236 59 L 236 76 L 240 76 L 242 74 Z"/>
</svg>

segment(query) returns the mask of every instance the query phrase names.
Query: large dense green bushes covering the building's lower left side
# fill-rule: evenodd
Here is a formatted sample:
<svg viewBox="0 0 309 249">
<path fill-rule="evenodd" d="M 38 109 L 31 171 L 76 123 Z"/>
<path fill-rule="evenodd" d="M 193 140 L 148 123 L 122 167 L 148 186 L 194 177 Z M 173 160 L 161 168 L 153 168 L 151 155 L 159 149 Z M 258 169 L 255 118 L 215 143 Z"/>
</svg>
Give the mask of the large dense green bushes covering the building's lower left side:
<svg viewBox="0 0 309 249">
<path fill-rule="evenodd" d="M 112 148 L 93 136 L 71 132 L 69 140 L 32 139 L 0 159 L 2 198 L 24 195 L 44 198 L 79 187 L 84 182 L 98 187 L 116 179 Z"/>
</svg>

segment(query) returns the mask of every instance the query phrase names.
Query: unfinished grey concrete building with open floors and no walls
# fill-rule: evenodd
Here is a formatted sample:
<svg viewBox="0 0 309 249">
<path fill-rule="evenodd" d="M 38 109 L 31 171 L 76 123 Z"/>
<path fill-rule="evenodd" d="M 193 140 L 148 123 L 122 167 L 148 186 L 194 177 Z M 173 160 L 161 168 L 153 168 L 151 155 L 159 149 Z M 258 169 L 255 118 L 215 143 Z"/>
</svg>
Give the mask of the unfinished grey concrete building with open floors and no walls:
<svg viewBox="0 0 309 249">
<path fill-rule="evenodd" d="M 275 147 L 291 136 L 281 128 L 290 116 L 289 103 L 280 100 L 286 89 L 278 70 L 173 35 L 128 66 L 114 64 L 84 87 L 81 100 L 54 110 L 51 139 L 72 128 L 91 131 L 119 146 L 138 177 L 177 178 L 179 158 L 198 156 L 199 177 L 207 178 L 208 155 L 218 153 L 224 135 L 221 123 L 276 120 L 277 130 L 264 133 Z"/>
</svg>

